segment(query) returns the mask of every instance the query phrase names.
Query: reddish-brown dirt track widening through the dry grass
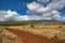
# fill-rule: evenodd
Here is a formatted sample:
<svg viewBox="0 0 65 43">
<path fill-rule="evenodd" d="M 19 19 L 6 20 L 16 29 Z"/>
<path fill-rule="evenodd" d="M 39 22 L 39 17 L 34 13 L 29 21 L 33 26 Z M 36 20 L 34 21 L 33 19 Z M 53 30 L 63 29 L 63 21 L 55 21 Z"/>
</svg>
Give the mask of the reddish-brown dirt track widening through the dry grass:
<svg viewBox="0 0 65 43">
<path fill-rule="evenodd" d="M 57 41 L 56 39 L 49 40 L 40 35 L 28 33 L 26 31 L 20 31 L 13 28 L 5 29 L 21 38 L 24 43 L 65 43 L 65 41 Z"/>
</svg>

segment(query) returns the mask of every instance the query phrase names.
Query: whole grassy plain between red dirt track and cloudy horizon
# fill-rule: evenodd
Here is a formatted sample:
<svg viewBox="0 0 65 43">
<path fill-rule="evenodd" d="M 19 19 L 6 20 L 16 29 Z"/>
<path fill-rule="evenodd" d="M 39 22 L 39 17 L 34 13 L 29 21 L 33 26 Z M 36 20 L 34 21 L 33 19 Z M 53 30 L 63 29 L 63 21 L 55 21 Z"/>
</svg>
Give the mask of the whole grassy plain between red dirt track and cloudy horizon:
<svg viewBox="0 0 65 43">
<path fill-rule="evenodd" d="M 65 23 L 62 22 L 22 22 L 21 24 L 2 24 L 0 27 L 26 31 L 47 39 L 65 41 Z"/>
</svg>

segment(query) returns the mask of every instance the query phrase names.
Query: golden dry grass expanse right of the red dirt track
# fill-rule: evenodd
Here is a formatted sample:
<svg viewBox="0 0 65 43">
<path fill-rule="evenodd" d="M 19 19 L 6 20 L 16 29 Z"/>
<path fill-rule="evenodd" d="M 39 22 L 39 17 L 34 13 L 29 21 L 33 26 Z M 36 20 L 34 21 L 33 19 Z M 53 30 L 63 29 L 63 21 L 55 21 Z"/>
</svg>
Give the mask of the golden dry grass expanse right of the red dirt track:
<svg viewBox="0 0 65 43">
<path fill-rule="evenodd" d="M 65 25 L 58 28 L 60 25 L 42 25 L 37 24 L 31 28 L 30 25 L 27 26 L 8 26 L 9 28 L 14 28 L 18 30 L 28 31 L 29 33 L 47 37 L 49 39 L 56 38 L 58 40 L 65 40 Z"/>
</svg>

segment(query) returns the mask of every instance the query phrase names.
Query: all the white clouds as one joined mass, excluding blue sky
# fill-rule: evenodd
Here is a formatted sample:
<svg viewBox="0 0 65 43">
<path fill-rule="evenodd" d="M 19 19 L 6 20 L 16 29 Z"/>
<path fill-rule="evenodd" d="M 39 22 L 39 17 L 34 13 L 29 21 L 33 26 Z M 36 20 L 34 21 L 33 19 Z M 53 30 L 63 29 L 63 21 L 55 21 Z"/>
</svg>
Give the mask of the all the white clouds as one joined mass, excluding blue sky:
<svg viewBox="0 0 65 43">
<path fill-rule="evenodd" d="M 65 6 L 65 0 L 52 0 L 47 6 L 42 3 L 48 3 L 50 0 L 37 0 L 27 3 L 29 15 L 20 15 L 15 11 L 0 11 L 0 22 L 10 20 L 65 20 L 65 17 L 61 16 L 58 10 Z M 42 2 L 42 3 L 41 3 Z"/>
</svg>

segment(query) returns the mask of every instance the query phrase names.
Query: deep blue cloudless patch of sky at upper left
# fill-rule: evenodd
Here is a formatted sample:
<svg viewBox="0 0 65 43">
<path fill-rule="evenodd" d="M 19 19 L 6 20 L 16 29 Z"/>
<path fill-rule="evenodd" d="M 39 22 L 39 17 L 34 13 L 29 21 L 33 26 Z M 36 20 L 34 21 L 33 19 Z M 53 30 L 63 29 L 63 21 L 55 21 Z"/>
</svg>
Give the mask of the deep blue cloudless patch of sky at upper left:
<svg viewBox="0 0 65 43">
<path fill-rule="evenodd" d="M 0 0 L 0 10 L 12 10 L 25 15 L 27 11 L 26 3 L 35 0 Z"/>
</svg>

